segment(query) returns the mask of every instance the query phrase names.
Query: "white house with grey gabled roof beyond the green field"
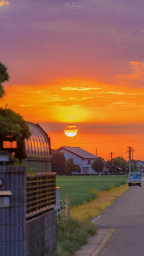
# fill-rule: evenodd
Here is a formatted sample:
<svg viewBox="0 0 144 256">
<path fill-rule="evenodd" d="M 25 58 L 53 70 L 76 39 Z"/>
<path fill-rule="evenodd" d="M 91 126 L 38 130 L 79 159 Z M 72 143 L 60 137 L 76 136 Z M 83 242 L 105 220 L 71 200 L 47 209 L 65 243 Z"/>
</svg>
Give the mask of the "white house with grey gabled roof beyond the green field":
<svg viewBox="0 0 144 256">
<path fill-rule="evenodd" d="M 76 165 L 79 165 L 81 167 L 81 174 L 98 174 L 98 172 L 94 171 L 91 168 L 91 164 L 94 162 L 95 158 L 98 158 L 94 154 L 91 154 L 90 152 L 80 148 L 80 147 L 60 147 L 57 149 L 59 152 L 63 153 L 66 157 L 66 160 L 68 158 L 72 157 L 73 162 Z M 104 161 L 104 160 L 103 160 Z M 104 161 L 104 164 L 106 165 L 106 162 Z M 102 173 L 108 173 L 108 170 L 106 169 L 106 166 L 104 166 Z"/>
</svg>

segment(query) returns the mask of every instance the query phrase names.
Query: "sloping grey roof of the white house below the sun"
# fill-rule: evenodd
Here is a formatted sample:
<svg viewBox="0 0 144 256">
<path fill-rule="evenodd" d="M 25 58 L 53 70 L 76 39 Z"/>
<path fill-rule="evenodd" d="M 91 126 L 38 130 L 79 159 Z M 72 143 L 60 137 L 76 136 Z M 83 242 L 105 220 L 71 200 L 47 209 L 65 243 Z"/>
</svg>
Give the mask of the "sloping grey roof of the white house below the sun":
<svg viewBox="0 0 144 256">
<path fill-rule="evenodd" d="M 73 154 L 75 154 L 76 156 L 79 156 L 81 158 L 90 158 L 90 159 L 94 159 L 97 158 L 95 155 L 87 152 L 86 150 L 80 148 L 80 147 L 60 147 L 57 150 L 61 150 L 61 149 L 65 149 L 68 152 L 71 152 Z"/>
</svg>

